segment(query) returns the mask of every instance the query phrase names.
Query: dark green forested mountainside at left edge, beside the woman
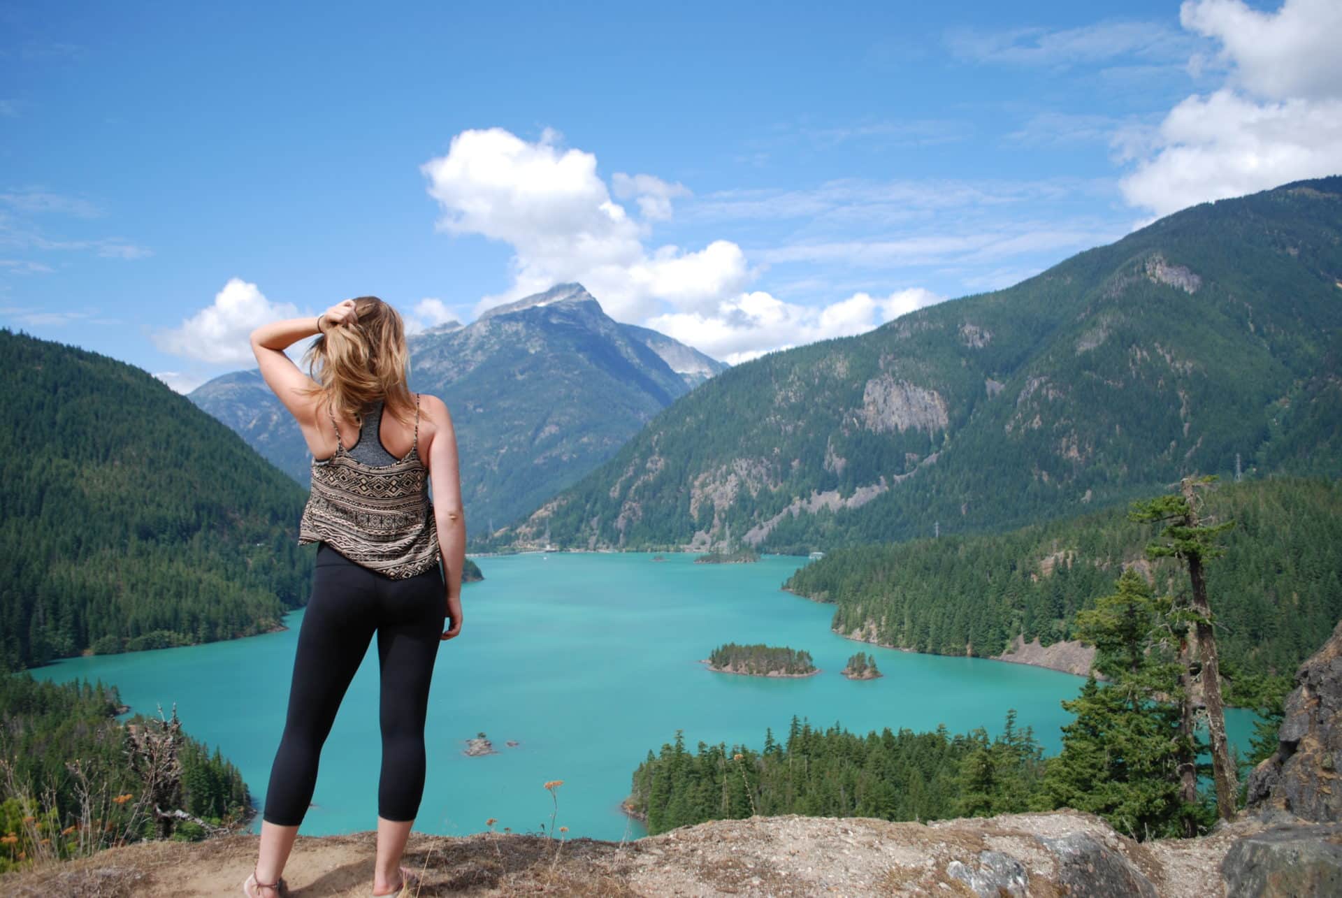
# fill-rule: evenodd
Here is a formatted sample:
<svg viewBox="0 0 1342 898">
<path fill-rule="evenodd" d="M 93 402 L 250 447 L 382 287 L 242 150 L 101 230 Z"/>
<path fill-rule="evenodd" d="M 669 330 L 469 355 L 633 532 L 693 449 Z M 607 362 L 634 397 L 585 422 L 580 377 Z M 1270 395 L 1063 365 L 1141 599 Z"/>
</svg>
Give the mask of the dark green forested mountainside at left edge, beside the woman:
<svg viewBox="0 0 1342 898">
<path fill-rule="evenodd" d="M 0 664 L 266 632 L 306 495 L 148 372 L 0 329 Z"/>
</svg>

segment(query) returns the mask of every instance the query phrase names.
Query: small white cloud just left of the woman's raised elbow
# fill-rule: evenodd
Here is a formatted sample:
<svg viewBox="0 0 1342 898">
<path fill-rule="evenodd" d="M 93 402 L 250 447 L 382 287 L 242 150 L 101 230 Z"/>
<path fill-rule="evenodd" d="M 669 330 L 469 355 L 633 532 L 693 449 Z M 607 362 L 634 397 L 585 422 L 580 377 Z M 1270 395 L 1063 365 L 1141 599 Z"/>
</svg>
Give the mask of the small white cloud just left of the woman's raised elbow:
<svg viewBox="0 0 1342 898">
<path fill-rule="evenodd" d="M 271 302 L 255 283 L 231 278 L 215 294 L 213 305 L 181 322 L 180 328 L 153 334 L 164 352 L 212 364 L 251 364 L 251 332 L 278 318 L 297 318 L 298 307 Z"/>
</svg>

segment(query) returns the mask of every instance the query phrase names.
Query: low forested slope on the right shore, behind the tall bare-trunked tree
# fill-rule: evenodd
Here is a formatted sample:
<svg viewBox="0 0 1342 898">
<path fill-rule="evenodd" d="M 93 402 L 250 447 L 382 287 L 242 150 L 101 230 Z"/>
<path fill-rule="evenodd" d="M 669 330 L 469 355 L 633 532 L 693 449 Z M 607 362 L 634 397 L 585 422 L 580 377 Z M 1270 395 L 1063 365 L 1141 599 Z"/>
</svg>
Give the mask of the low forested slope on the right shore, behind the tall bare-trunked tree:
<svg viewBox="0 0 1342 898">
<path fill-rule="evenodd" d="M 1076 612 L 1113 595 L 1125 565 L 1162 592 L 1188 591 L 1178 562 L 1145 558 L 1154 530 L 1126 511 L 836 549 L 785 587 L 833 603 L 837 632 L 884 646 L 986 658 L 1016 636 L 1047 646 L 1075 639 Z M 1204 514 L 1236 522 L 1206 565 L 1223 671 L 1290 675 L 1342 619 L 1342 482 L 1223 483 Z M 1247 702 L 1247 686 L 1232 681 L 1232 698 Z"/>
</svg>

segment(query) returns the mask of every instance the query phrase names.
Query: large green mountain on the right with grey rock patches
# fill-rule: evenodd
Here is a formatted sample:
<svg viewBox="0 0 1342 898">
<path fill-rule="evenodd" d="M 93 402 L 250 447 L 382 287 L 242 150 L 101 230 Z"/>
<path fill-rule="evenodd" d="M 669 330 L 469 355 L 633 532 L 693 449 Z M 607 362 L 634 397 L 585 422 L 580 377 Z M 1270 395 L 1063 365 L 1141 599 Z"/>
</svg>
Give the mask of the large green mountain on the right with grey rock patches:
<svg viewBox="0 0 1342 898">
<path fill-rule="evenodd" d="M 1342 177 L 727 370 L 510 540 L 773 550 L 1019 526 L 1180 475 L 1342 472 Z"/>
</svg>

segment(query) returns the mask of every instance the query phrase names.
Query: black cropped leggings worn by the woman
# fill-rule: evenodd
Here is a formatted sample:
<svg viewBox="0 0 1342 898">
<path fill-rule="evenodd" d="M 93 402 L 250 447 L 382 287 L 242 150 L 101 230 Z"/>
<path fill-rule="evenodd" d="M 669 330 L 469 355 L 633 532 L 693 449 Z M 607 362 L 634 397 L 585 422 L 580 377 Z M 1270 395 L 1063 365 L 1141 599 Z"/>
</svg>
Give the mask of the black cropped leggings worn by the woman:
<svg viewBox="0 0 1342 898">
<path fill-rule="evenodd" d="M 424 795 L 424 717 L 447 617 L 446 595 L 442 566 L 392 580 L 326 542 L 318 545 L 264 820 L 286 827 L 303 821 L 322 744 L 374 632 L 382 728 L 377 813 L 386 820 L 415 819 Z"/>
</svg>

